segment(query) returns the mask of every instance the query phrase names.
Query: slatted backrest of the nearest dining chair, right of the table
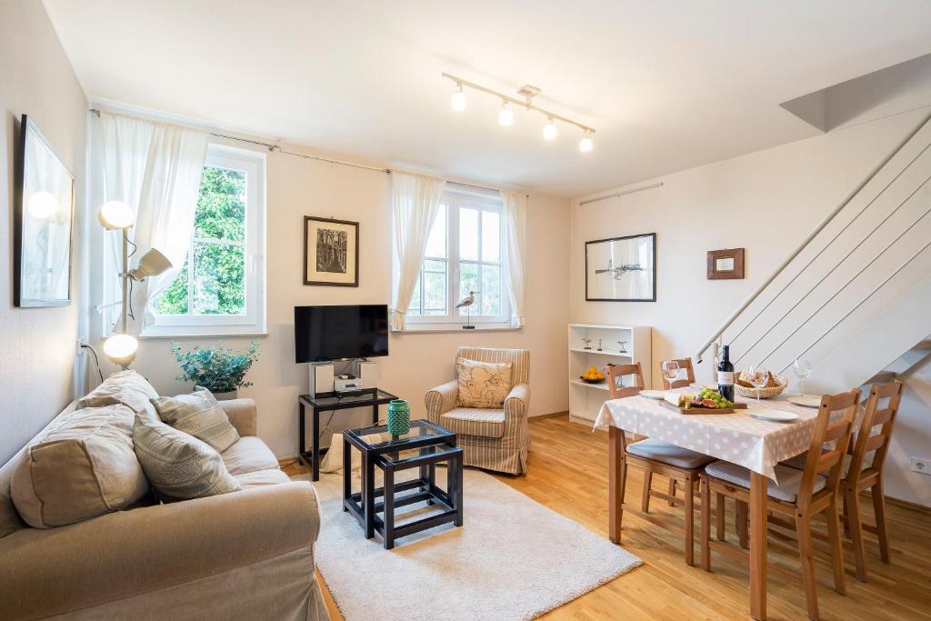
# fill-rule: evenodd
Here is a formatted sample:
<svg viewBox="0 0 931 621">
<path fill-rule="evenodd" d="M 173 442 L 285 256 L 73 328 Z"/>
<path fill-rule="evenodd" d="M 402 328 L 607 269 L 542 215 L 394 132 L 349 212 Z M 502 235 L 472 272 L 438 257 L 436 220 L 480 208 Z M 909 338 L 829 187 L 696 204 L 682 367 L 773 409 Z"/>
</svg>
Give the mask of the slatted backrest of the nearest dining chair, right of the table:
<svg viewBox="0 0 931 621">
<path fill-rule="evenodd" d="M 811 443 L 808 447 L 808 459 L 799 485 L 798 504 L 807 505 L 812 499 L 815 488 L 815 477 L 828 471 L 828 485 L 826 489 L 836 493 L 843 477 L 843 456 L 847 453 L 850 436 L 854 431 L 854 419 L 857 416 L 857 407 L 860 402 L 860 390 L 854 388 L 850 392 L 837 395 L 824 395 L 818 407 L 815 429 L 812 431 Z M 835 412 L 843 412 L 841 419 L 836 418 Z M 834 442 L 834 448 L 822 452 L 825 442 Z"/>
</svg>

